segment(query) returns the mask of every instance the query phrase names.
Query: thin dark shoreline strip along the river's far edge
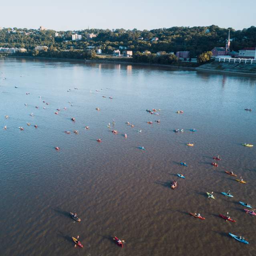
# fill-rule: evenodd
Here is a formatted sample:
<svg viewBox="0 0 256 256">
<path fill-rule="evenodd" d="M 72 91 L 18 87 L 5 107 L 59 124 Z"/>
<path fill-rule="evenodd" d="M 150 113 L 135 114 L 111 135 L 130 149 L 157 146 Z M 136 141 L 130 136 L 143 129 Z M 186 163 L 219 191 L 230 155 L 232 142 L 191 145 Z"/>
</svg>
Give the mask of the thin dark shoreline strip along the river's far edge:
<svg viewBox="0 0 256 256">
<path fill-rule="evenodd" d="M 111 64 L 125 64 L 125 65 L 138 65 L 146 67 L 161 67 L 167 69 L 181 69 L 187 71 L 203 71 L 210 73 L 222 73 L 222 74 L 233 74 L 233 75 L 243 75 L 243 76 L 252 76 L 255 77 L 256 73 L 246 73 L 246 72 L 237 72 L 237 71 L 225 71 L 225 70 L 214 70 L 206 69 L 203 67 L 181 67 L 175 65 L 166 65 L 166 64 L 154 64 L 154 63 L 144 63 L 144 62 L 131 62 L 131 61 L 121 61 L 121 60 L 82 60 L 74 58 L 48 58 L 48 57 L 33 57 L 33 56 L 0 56 L 0 58 L 30 58 L 30 59 L 45 59 L 45 60 L 64 60 L 64 61 L 74 61 L 74 62 L 84 62 L 84 63 L 111 63 Z"/>
</svg>

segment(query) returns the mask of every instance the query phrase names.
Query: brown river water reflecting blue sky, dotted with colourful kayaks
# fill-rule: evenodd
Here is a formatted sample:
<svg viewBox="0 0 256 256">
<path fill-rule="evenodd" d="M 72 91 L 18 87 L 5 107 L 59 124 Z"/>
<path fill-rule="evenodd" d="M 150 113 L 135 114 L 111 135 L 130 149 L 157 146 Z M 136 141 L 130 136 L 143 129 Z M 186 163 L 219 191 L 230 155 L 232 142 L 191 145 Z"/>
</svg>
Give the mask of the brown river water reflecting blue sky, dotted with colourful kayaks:
<svg viewBox="0 0 256 256">
<path fill-rule="evenodd" d="M 256 208 L 256 78 L 0 58 L 0 85 L 1 256 L 256 255 L 256 216 L 239 204 Z M 227 212 L 235 223 L 219 217 Z"/>
</svg>

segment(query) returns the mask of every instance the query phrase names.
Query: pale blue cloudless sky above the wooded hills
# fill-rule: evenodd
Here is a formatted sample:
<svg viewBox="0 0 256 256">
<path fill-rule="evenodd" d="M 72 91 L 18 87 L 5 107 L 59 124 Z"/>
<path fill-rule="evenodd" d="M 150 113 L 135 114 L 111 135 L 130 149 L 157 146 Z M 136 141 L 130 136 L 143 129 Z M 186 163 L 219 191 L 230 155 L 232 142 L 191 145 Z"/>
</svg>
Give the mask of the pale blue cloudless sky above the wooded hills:
<svg viewBox="0 0 256 256">
<path fill-rule="evenodd" d="M 256 26 L 256 0 L 1 1 L 0 27 L 80 30 L 171 26 Z M 5 2 L 5 3 L 4 3 Z M 9 2 L 9 3 L 8 3 Z M 222 10 L 220 10 L 222 9 Z"/>
</svg>

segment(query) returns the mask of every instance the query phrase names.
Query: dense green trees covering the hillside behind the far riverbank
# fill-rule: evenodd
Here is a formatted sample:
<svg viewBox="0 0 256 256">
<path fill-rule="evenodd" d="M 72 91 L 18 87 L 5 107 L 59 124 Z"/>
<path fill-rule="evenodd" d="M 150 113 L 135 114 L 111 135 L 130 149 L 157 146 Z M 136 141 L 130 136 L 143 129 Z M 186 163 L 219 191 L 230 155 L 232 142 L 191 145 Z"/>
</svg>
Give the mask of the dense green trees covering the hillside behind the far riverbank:
<svg viewBox="0 0 256 256">
<path fill-rule="evenodd" d="M 27 28 L 3 28 L 0 30 L 0 47 L 18 47 L 26 48 L 27 54 L 36 54 L 35 46 L 46 45 L 49 47 L 47 53 L 38 52 L 38 56 L 48 54 L 49 56 L 79 56 L 85 54 L 88 56 L 88 46 L 101 48 L 103 53 L 111 54 L 119 46 L 127 46 L 128 50 L 133 52 L 143 52 L 149 50 L 152 54 L 159 51 L 176 52 L 182 50 L 190 51 L 190 56 L 195 58 L 216 47 L 224 47 L 228 38 L 228 29 L 230 29 L 230 38 L 232 39 L 230 49 L 239 50 L 244 47 L 256 46 L 256 27 L 251 26 L 243 30 L 234 30 L 232 28 L 219 28 L 212 25 L 208 27 L 171 27 L 158 28 L 153 30 L 125 30 L 123 28 L 115 30 L 103 29 L 85 29 L 80 31 L 58 31 L 59 36 L 55 37 L 54 30 L 33 30 Z M 82 35 L 82 40 L 71 41 L 72 33 Z M 97 37 L 87 40 L 87 34 L 94 33 Z M 158 41 L 151 42 L 153 37 L 158 37 Z M 64 51 L 71 50 L 72 53 Z M 57 53 L 58 52 L 58 53 Z M 85 52 L 85 53 L 82 53 Z M 91 53 L 90 53 L 91 54 Z M 89 54 L 89 55 L 90 55 Z M 94 54 L 90 55 L 94 58 Z M 147 59 L 153 62 L 154 55 L 140 56 L 134 54 L 134 61 L 139 58 Z M 157 58 L 155 61 L 171 62 L 167 60 L 170 56 Z"/>
</svg>

